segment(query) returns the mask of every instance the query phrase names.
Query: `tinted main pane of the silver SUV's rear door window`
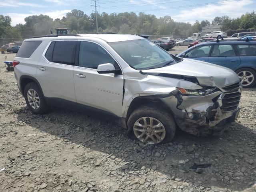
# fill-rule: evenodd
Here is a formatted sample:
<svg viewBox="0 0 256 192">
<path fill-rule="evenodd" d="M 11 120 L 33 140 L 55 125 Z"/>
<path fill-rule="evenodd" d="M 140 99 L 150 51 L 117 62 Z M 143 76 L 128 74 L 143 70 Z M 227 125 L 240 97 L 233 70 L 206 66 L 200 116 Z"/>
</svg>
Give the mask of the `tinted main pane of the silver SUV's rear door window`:
<svg viewBox="0 0 256 192">
<path fill-rule="evenodd" d="M 52 54 L 52 62 L 74 65 L 76 42 L 77 41 L 56 41 Z"/>
</svg>

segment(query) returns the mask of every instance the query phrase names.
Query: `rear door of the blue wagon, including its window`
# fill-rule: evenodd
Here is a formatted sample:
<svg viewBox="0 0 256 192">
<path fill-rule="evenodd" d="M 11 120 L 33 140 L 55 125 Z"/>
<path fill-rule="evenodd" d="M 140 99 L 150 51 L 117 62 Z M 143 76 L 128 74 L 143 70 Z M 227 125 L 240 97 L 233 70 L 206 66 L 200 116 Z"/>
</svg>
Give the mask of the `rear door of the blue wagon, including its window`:
<svg viewBox="0 0 256 192">
<path fill-rule="evenodd" d="M 236 55 L 232 45 L 216 44 L 208 60 L 209 63 L 217 64 L 234 70 L 240 65 L 240 57 Z"/>
</svg>

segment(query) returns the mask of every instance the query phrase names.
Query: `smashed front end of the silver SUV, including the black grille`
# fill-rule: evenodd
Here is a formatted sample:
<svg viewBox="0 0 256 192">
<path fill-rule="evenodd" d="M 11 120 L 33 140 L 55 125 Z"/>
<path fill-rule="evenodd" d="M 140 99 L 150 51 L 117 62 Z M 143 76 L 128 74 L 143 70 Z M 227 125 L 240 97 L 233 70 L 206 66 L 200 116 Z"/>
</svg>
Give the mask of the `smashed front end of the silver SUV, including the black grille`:
<svg viewBox="0 0 256 192">
<path fill-rule="evenodd" d="M 239 113 L 242 87 L 239 83 L 224 88 L 205 87 L 202 90 L 177 88 L 173 96 L 162 98 L 172 110 L 181 130 L 197 136 L 220 132 L 234 122 Z M 174 106 L 176 102 L 176 106 Z"/>
</svg>

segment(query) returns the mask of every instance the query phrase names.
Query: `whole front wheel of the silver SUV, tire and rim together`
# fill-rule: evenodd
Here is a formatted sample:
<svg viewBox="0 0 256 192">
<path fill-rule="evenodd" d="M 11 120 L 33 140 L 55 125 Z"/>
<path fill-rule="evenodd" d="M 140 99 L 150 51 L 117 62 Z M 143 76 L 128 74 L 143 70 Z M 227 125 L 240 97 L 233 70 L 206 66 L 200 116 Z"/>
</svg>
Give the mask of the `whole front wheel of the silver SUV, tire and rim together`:
<svg viewBox="0 0 256 192">
<path fill-rule="evenodd" d="M 144 120 L 145 117 L 146 117 L 146 122 L 148 126 L 146 128 L 144 127 L 140 129 L 141 127 L 136 126 L 135 123 L 140 124 L 142 122 L 145 122 Z M 152 120 L 153 126 L 156 126 L 156 125 L 161 125 L 161 126 L 152 128 L 150 126 L 151 120 Z M 140 125 L 144 126 L 143 124 L 145 125 L 145 123 L 142 123 Z M 163 109 L 159 109 L 157 106 L 142 106 L 140 108 L 137 108 L 130 115 L 127 125 L 128 125 L 128 132 L 127 132 L 128 136 L 130 136 L 131 138 L 136 138 L 141 142 L 144 142 L 147 144 L 171 142 L 176 132 L 176 124 L 172 115 Z M 138 131 L 138 129 L 143 131 Z M 156 132 L 153 133 L 154 131 L 158 131 L 159 134 Z M 158 135 L 158 139 L 156 137 L 156 134 Z M 143 136 L 141 138 L 138 138 L 141 135 Z M 147 136 L 148 136 L 148 139 L 145 140 Z M 154 138 L 154 140 L 152 140 L 152 138 Z"/>
</svg>

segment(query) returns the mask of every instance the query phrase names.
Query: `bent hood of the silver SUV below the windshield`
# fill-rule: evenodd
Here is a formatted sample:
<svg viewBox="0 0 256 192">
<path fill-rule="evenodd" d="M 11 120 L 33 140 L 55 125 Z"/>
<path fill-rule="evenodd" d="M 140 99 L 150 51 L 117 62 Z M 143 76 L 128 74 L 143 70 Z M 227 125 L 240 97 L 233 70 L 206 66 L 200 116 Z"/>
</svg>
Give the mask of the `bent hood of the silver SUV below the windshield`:
<svg viewBox="0 0 256 192">
<path fill-rule="evenodd" d="M 163 73 L 196 77 L 200 85 L 222 88 L 239 82 L 237 74 L 226 67 L 184 58 L 182 62 L 156 69 L 142 70 L 143 73 Z"/>
</svg>

